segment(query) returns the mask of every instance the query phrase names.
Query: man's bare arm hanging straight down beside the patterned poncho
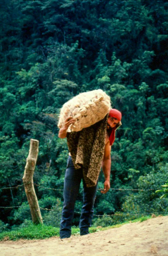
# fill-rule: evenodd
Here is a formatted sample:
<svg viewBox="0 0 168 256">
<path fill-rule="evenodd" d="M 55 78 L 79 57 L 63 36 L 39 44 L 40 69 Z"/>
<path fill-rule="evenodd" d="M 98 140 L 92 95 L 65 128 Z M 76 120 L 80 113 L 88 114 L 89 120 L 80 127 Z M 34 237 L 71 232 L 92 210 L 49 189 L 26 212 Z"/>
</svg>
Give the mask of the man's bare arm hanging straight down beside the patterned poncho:
<svg viewBox="0 0 168 256">
<path fill-rule="evenodd" d="M 103 157 L 103 161 L 102 161 L 102 170 L 104 173 L 104 177 L 105 177 L 105 182 L 104 182 L 104 190 L 101 191 L 101 193 L 105 194 L 108 192 L 108 190 L 110 189 L 110 169 L 111 169 L 111 146 L 110 146 L 110 142 L 108 141 L 108 143 L 105 146 L 105 150 L 104 150 L 104 157 Z"/>
</svg>

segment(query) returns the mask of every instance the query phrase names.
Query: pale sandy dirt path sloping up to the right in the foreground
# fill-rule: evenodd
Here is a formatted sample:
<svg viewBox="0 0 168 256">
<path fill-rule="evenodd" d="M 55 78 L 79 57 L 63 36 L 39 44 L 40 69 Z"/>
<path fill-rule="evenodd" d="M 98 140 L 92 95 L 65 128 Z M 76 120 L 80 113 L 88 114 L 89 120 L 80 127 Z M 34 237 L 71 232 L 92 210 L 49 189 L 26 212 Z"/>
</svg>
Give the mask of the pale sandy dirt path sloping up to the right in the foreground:
<svg viewBox="0 0 168 256">
<path fill-rule="evenodd" d="M 60 240 L 1 241 L 0 255 L 168 256 L 168 216 Z"/>
</svg>

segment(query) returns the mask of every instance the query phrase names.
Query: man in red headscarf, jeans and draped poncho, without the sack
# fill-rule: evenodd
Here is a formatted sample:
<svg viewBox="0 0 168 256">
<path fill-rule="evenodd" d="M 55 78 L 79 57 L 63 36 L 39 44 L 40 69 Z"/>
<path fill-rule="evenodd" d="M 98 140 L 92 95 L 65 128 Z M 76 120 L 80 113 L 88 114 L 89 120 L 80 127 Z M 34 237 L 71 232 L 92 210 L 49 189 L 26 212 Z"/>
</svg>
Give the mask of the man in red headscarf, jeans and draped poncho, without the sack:
<svg viewBox="0 0 168 256">
<path fill-rule="evenodd" d="M 121 125 L 121 112 L 111 108 L 109 113 L 96 124 L 79 132 L 67 132 L 75 119 L 69 117 L 60 129 L 58 137 L 67 137 L 69 156 L 64 180 L 64 204 L 60 222 L 60 238 L 71 236 L 76 197 L 83 181 L 83 207 L 80 216 L 80 235 L 89 234 L 93 217 L 98 177 L 102 167 L 105 194 L 110 189 L 111 145 L 115 141 L 116 129 Z"/>
</svg>

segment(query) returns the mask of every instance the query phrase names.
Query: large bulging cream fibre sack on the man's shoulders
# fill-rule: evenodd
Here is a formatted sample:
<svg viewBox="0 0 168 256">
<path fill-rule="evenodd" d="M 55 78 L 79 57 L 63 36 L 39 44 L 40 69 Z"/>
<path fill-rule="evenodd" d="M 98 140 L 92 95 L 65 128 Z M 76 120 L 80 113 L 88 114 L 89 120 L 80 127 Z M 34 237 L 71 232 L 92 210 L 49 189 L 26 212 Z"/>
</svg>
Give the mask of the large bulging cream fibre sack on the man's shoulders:
<svg viewBox="0 0 168 256">
<path fill-rule="evenodd" d="M 63 128 L 65 120 L 76 119 L 67 132 L 78 132 L 102 120 L 110 111 L 110 97 L 101 89 L 83 92 L 68 100 L 60 110 L 58 127 Z"/>
</svg>

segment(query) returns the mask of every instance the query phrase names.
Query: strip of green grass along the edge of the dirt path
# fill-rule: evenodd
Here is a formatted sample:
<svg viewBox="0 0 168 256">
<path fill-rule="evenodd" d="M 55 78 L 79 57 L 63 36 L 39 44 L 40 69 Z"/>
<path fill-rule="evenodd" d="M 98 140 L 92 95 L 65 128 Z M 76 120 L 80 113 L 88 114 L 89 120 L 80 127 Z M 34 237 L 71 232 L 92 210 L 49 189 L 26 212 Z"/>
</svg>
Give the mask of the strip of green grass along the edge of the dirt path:
<svg viewBox="0 0 168 256">
<path fill-rule="evenodd" d="M 129 220 L 121 224 L 117 224 L 114 226 L 108 226 L 105 228 L 102 227 L 92 227 L 89 229 L 90 233 L 94 233 L 101 230 L 107 230 L 109 228 L 119 228 L 124 224 L 132 223 L 132 222 L 142 222 L 144 220 L 150 219 L 151 216 L 144 216 L 135 220 Z M 72 235 L 79 235 L 79 228 L 73 228 L 72 227 Z M 18 240 L 20 238 L 22 239 L 44 239 L 49 238 L 51 236 L 59 236 L 59 228 L 55 228 L 52 226 L 46 226 L 46 225 L 34 225 L 30 224 L 26 228 L 19 228 L 17 230 L 13 231 L 5 231 L 0 233 L 0 240 Z"/>
</svg>

